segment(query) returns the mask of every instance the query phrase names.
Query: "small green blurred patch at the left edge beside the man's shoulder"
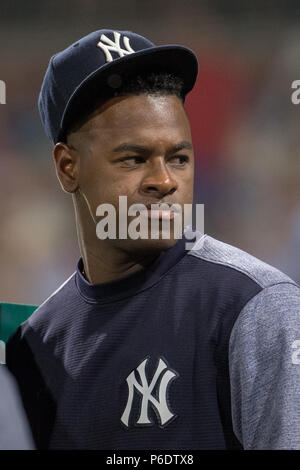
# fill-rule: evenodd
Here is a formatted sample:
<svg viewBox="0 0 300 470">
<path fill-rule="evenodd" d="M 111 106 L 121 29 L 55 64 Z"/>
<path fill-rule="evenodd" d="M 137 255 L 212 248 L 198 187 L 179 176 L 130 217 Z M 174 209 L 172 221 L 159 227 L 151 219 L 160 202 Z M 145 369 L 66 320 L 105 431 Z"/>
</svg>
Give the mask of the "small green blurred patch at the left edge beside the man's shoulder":
<svg viewBox="0 0 300 470">
<path fill-rule="evenodd" d="M 36 309 L 35 305 L 0 303 L 0 341 L 6 343 L 18 326 Z"/>
</svg>

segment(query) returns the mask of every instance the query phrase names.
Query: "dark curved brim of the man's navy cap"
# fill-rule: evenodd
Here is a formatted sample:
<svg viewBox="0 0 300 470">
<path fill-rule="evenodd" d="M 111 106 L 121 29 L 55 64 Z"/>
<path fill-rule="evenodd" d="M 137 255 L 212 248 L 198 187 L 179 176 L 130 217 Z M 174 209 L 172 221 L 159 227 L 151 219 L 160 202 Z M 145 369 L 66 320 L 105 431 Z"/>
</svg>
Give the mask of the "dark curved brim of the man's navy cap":
<svg viewBox="0 0 300 470">
<path fill-rule="evenodd" d="M 87 76 L 69 98 L 62 116 L 58 140 L 64 137 L 70 123 L 80 118 L 81 110 L 86 110 L 97 98 L 109 96 L 116 90 L 110 85 L 112 75 L 118 75 L 122 82 L 128 77 L 147 72 L 177 75 L 183 79 L 183 93 L 186 95 L 195 84 L 198 62 L 191 49 L 168 45 L 143 49 L 102 65 Z"/>
</svg>

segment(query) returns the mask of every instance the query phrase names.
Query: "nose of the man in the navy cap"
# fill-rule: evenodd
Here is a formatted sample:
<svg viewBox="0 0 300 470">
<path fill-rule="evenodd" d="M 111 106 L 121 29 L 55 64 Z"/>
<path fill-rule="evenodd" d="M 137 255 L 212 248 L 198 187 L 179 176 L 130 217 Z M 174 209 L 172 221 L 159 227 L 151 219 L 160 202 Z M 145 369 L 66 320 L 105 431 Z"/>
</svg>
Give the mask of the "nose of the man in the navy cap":
<svg viewBox="0 0 300 470">
<path fill-rule="evenodd" d="M 168 170 L 165 162 L 156 162 L 147 169 L 141 184 L 144 194 L 163 197 L 177 189 L 177 182 Z"/>
</svg>

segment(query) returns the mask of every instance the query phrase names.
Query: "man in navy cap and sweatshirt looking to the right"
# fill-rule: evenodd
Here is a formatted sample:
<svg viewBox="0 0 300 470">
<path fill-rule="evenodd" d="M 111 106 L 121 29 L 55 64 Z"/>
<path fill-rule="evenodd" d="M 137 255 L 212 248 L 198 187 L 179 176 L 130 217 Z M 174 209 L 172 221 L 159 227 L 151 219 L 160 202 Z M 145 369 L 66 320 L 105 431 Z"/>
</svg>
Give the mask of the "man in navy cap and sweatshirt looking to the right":
<svg viewBox="0 0 300 470">
<path fill-rule="evenodd" d="M 38 448 L 300 448 L 299 287 L 191 228 L 175 237 L 196 75 L 189 49 L 128 31 L 50 60 L 39 109 L 82 258 L 8 343 Z M 103 204 L 124 229 L 119 196 L 144 204 L 156 235 L 171 219 L 169 237 L 105 238 Z"/>
</svg>

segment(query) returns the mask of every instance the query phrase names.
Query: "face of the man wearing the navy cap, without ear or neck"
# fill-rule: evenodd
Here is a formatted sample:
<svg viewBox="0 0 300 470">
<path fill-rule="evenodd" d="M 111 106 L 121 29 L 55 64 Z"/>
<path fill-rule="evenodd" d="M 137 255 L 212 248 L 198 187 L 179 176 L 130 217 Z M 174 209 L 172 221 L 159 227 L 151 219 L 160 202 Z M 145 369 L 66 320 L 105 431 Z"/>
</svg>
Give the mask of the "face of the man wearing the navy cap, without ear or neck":
<svg viewBox="0 0 300 470">
<path fill-rule="evenodd" d="M 118 221 L 119 196 L 127 196 L 128 207 L 176 203 L 183 208 L 192 203 L 194 155 L 190 126 L 176 96 L 143 94 L 110 99 L 69 140 L 79 152 L 78 183 L 94 215 L 100 204 L 109 203 L 115 207 Z M 156 213 L 156 217 L 161 231 L 162 213 Z M 128 223 L 133 218 L 128 217 Z M 125 251 L 162 250 L 176 243 L 174 220 L 167 240 L 150 238 L 150 222 L 148 213 L 147 240 L 128 237 L 110 243 Z"/>
</svg>

